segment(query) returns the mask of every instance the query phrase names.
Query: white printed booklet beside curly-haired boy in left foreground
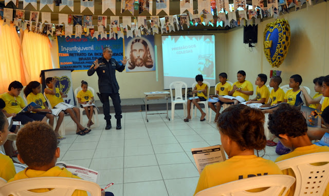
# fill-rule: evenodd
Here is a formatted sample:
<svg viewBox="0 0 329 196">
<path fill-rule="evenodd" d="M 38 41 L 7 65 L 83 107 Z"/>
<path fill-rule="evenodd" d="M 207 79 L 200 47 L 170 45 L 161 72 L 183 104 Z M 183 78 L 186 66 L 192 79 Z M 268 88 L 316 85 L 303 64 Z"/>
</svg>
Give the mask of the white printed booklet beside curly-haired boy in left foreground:
<svg viewBox="0 0 329 196">
<path fill-rule="evenodd" d="M 82 178 L 83 180 L 98 183 L 100 178 L 100 173 L 98 171 L 88 169 L 78 165 L 71 165 L 67 164 L 63 161 L 59 161 L 56 163 L 55 166 L 60 168 L 65 167 L 68 171 L 72 174 L 77 175 L 78 177 Z"/>
</svg>

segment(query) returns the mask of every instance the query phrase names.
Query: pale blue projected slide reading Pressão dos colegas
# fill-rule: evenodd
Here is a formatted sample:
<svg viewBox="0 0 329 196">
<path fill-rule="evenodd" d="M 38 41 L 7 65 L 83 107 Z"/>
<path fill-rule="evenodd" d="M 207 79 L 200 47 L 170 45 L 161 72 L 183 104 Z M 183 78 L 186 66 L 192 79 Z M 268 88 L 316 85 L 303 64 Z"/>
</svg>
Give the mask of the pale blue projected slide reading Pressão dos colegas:
<svg viewBox="0 0 329 196">
<path fill-rule="evenodd" d="M 215 86 L 214 35 L 162 35 L 162 57 L 163 89 L 174 81 L 183 81 L 190 88 L 197 74 Z"/>
</svg>

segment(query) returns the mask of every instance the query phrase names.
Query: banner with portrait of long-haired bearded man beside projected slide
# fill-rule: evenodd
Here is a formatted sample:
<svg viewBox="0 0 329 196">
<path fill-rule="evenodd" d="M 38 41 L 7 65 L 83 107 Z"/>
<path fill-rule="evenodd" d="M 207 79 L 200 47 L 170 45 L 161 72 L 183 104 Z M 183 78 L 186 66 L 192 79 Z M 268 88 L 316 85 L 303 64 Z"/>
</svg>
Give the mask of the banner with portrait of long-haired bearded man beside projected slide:
<svg viewBox="0 0 329 196">
<path fill-rule="evenodd" d="M 128 57 L 126 72 L 155 71 L 154 36 L 127 37 L 124 40 Z"/>
</svg>

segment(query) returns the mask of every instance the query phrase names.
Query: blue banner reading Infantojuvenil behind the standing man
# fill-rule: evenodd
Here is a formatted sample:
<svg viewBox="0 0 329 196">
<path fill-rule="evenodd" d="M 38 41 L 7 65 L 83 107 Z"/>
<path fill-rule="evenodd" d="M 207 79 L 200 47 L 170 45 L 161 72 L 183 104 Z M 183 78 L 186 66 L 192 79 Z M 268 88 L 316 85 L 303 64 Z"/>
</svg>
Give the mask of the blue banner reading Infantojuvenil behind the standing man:
<svg viewBox="0 0 329 196">
<path fill-rule="evenodd" d="M 74 70 L 88 70 L 97 58 L 102 57 L 103 48 L 109 47 L 113 51 L 112 58 L 120 62 L 123 59 L 123 40 L 109 38 L 81 38 L 58 36 L 58 54 L 60 68 Z"/>
</svg>

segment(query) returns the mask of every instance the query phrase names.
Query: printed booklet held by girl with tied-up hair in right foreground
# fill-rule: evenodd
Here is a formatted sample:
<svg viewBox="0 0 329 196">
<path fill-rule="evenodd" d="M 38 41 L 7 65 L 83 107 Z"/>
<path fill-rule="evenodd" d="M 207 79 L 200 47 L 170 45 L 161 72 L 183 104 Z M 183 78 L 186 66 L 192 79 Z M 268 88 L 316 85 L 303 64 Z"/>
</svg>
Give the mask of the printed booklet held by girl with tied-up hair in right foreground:
<svg viewBox="0 0 329 196">
<path fill-rule="evenodd" d="M 191 151 L 197 170 L 200 174 L 207 165 L 226 160 L 224 148 L 222 145 L 209 146 L 204 148 L 192 148 Z"/>
</svg>

